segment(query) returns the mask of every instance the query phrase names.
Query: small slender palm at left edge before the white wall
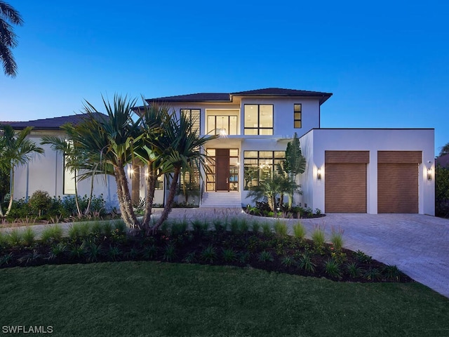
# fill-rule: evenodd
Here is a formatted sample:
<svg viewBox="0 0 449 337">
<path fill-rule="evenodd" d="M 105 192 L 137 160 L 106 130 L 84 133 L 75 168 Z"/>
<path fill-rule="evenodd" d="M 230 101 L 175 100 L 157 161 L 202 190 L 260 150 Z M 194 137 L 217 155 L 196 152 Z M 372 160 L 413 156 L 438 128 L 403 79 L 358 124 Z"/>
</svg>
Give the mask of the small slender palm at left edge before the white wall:
<svg viewBox="0 0 449 337">
<path fill-rule="evenodd" d="M 38 147 L 36 143 L 27 138 L 32 131 L 31 126 L 24 128 L 19 133 L 15 133 L 14 129 L 9 125 L 1 126 L 1 129 L 3 130 L 3 135 L 0 138 L 0 170 L 4 173 L 10 172 L 11 174 L 11 196 L 5 215 L 0 206 L 0 216 L 3 217 L 8 216 L 13 206 L 15 168 L 32 161 L 33 154 L 42 154 L 43 148 Z"/>
</svg>

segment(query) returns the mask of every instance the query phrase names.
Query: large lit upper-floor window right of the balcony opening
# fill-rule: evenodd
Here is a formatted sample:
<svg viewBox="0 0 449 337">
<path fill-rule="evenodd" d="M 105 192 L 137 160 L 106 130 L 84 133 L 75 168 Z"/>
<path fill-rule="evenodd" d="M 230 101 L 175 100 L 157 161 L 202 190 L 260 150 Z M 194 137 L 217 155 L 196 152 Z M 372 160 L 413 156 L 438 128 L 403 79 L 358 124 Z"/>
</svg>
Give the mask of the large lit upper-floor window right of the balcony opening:
<svg viewBox="0 0 449 337">
<path fill-rule="evenodd" d="M 246 104 L 244 114 L 246 135 L 273 134 L 272 104 Z"/>
</svg>

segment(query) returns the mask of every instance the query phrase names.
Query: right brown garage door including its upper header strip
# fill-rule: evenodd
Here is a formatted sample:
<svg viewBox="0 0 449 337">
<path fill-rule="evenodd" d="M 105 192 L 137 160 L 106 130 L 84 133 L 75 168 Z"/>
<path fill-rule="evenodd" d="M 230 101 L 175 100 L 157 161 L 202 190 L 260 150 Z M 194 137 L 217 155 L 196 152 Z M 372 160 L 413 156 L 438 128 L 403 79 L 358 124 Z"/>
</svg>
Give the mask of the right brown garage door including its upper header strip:
<svg viewBox="0 0 449 337">
<path fill-rule="evenodd" d="M 421 151 L 377 152 L 377 213 L 418 213 Z"/>
</svg>

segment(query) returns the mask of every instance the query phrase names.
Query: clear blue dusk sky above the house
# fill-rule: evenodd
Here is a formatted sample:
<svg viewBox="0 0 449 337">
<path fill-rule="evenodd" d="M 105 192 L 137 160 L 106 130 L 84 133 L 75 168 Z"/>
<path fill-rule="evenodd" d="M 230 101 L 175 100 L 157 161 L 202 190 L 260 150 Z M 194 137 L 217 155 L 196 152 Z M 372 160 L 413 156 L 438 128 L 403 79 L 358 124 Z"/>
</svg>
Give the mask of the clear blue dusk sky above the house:
<svg viewBox="0 0 449 337">
<path fill-rule="evenodd" d="M 79 113 L 102 95 L 333 93 L 323 128 L 435 128 L 449 142 L 449 2 L 6 0 L 25 24 L 0 120 Z"/>
</svg>

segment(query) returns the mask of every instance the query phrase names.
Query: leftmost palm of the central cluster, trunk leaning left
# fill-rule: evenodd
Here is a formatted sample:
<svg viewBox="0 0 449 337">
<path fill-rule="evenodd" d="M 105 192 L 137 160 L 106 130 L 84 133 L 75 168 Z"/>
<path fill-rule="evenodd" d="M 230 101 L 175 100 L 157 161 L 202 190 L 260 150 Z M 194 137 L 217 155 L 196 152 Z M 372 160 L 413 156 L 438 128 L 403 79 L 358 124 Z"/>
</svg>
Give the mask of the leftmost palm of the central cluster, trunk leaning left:
<svg viewBox="0 0 449 337">
<path fill-rule="evenodd" d="M 135 143 L 142 137 L 140 119 L 133 121 L 133 108 L 136 100 L 125 96 L 114 95 L 114 103 L 102 98 L 107 117 L 98 112 L 91 103 L 84 104 L 84 111 L 88 114 L 81 124 L 66 124 L 62 126 L 74 147 L 89 156 L 98 156 L 100 169 L 104 173 L 114 176 L 117 185 L 117 197 L 121 216 L 130 228 L 140 227 L 131 204 L 128 180 L 125 166 L 134 159 Z"/>
</svg>

